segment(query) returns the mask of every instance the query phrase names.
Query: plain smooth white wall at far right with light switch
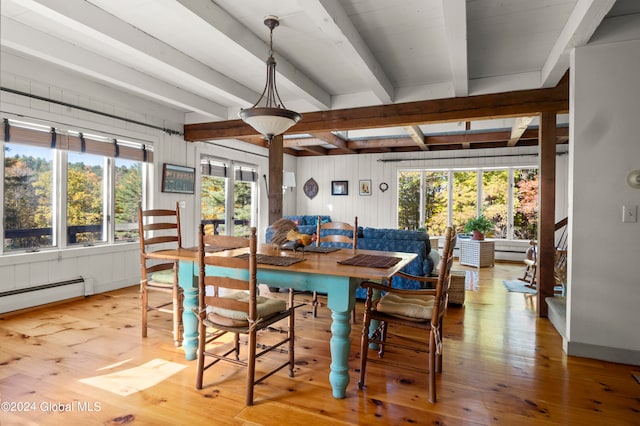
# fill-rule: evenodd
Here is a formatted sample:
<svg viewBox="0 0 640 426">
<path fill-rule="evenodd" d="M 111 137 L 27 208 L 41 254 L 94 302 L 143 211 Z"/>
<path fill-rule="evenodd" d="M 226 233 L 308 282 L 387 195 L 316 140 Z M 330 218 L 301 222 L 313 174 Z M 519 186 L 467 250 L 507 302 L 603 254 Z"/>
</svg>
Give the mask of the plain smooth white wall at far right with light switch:
<svg viewBox="0 0 640 426">
<path fill-rule="evenodd" d="M 571 62 L 569 354 L 640 364 L 640 41 L 576 49 Z"/>
</svg>

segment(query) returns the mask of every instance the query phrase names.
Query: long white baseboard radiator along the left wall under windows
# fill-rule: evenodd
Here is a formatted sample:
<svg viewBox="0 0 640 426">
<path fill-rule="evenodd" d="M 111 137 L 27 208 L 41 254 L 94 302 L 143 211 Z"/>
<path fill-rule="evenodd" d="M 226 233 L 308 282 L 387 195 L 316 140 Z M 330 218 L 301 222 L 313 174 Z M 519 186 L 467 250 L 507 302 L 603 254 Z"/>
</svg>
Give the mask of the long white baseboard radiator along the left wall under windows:
<svg viewBox="0 0 640 426">
<path fill-rule="evenodd" d="M 84 295 L 85 281 L 82 277 L 8 290 L 0 293 L 0 314 Z"/>
</svg>

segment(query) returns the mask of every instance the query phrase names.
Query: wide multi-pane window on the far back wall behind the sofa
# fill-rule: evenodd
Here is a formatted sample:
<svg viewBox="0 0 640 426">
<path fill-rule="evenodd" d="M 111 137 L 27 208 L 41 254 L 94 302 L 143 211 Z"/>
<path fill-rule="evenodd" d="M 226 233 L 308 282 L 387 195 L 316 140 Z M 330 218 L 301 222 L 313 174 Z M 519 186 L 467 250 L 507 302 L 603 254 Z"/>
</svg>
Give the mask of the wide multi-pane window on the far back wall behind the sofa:
<svg viewBox="0 0 640 426">
<path fill-rule="evenodd" d="M 492 238 L 535 239 L 538 169 L 401 170 L 398 226 L 443 235 L 448 224 L 464 232 L 483 213 L 495 223 Z"/>
</svg>

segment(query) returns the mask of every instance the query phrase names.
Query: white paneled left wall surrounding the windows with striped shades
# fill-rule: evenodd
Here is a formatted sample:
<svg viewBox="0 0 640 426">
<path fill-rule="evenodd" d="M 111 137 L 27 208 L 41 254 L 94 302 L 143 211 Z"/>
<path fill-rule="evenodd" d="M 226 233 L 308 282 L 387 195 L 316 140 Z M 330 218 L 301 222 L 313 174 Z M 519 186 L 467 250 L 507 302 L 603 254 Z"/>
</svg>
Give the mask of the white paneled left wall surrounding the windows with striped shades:
<svg viewBox="0 0 640 426">
<path fill-rule="evenodd" d="M 154 126 L 182 131 L 184 114 L 157 103 L 129 96 L 117 90 L 82 79 L 68 71 L 2 50 L 0 61 L 2 87 L 67 102 L 107 114 L 125 117 Z M 159 190 L 161 165 L 164 162 L 192 165 L 193 144 L 185 144 L 180 136 L 170 136 L 159 130 L 102 115 L 34 100 L 26 96 L 0 92 L 2 117 L 20 118 L 67 127 L 85 132 L 99 132 L 123 139 L 153 144 L 155 167 L 149 182 L 150 205 L 173 207 L 176 201 L 186 201 L 185 211 L 192 212 L 194 195 L 163 194 Z M 0 202 L 0 213 L 4 200 Z M 184 215 L 187 220 L 189 214 Z M 0 218 L 4 217 L 0 214 Z M 193 226 L 192 223 L 185 223 Z M 100 293 L 134 285 L 140 280 L 139 244 L 123 243 L 111 246 L 78 247 L 65 250 L 45 250 L 39 253 L 5 253 L 0 256 L 0 292 L 34 287 L 83 277 L 86 294 Z M 60 293 L 63 293 L 61 290 Z M 82 294 L 80 294 L 82 295 Z M 55 296 L 55 295 L 54 295 Z M 13 296 L 12 296 L 13 297 Z M 29 299 L 30 306 L 53 300 L 33 293 L 15 296 Z M 48 296 L 47 296 L 48 297 Z M 22 302 L 22 301 L 18 301 Z M 12 302 L 13 303 L 13 302 Z M 0 312 L 13 310 L 0 303 Z M 18 306 L 19 305 L 19 306 Z M 23 308 L 24 303 L 18 303 Z"/>
</svg>

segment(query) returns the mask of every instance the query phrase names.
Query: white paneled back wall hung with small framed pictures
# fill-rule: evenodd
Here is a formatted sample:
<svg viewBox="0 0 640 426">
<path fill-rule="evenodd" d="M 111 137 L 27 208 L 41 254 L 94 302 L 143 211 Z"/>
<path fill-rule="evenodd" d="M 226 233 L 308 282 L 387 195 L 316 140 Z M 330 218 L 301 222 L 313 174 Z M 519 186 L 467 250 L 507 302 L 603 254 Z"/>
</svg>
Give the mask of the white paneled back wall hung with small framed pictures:
<svg viewBox="0 0 640 426">
<path fill-rule="evenodd" d="M 567 215 L 567 165 L 566 146 L 559 146 L 556 171 L 557 220 Z M 495 148 L 482 150 L 456 150 L 411 152 L 402 154 L 361 154 L 325 157 L 300 157 L 296 179 L 298 180 L 297 214 L 331 215 L 333 220 L 374 228 L 395 228 L 397 218 L 397 175 L 401 169 L 447 169 L 464 167 L 513 167 L 538 166 L 537 147 Z M 309 199 L 303 192 L 309 178 L 318 182 L 318 195 Z M 371 179 L 371 196 L 361 196 L 358 181 Z M 349 181 L 349 195 L 332 196 L 331 181 Z M 381 182 L 389 189 L 382 192 Z M 428 231 L 428 230 L 427 230 Z M 496 241 L 496 259 L 522 261 L 528 241 Z"/>
</svg>

